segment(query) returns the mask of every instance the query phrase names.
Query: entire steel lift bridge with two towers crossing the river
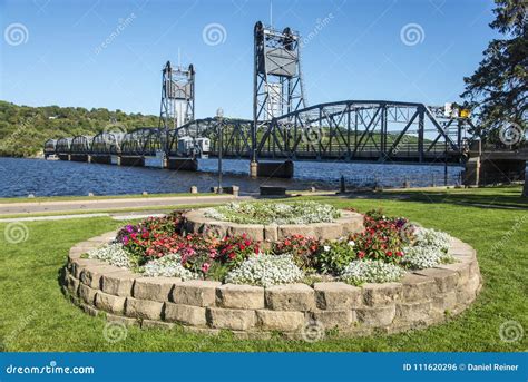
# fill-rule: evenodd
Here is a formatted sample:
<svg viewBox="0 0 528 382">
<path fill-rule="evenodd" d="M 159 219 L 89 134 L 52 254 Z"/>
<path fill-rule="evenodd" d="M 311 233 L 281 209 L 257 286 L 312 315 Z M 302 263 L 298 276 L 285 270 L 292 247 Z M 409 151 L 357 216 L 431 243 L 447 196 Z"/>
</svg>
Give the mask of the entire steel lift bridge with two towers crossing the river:
<svg viewBox="0 0 528 382">
<path fill-rule="evenodd" d="M 163 69 L 158 127 L 50 139 L 45 156 L 196 170 L 198 157 L 250 159 L 252 176 L 293 176 L 295 160 L 461 164 L 468 159 L 468 111 L 391 100 L 307 106 L 300 35 L 254 28 L 253 119 L 195 119 L 195 70 Z M 273 160 L 272 160 L 273 159 Z"/>
</svg>

